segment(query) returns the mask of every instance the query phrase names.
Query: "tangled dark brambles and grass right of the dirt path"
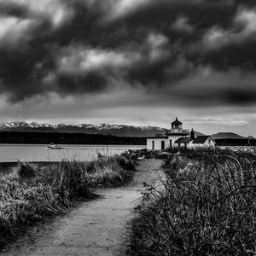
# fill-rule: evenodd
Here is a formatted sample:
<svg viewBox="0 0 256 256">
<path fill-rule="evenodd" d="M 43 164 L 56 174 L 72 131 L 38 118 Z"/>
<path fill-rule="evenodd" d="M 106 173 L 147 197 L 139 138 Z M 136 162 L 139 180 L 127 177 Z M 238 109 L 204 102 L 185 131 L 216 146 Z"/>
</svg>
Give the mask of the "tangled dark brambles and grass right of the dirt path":
<svg viewBox="0 0 256 256">
<path fill-rule="evenodd" d="M 255 255 L 256 156 L 197 149 L 166 160 L 131 230 L 131 255 Z"/>
</svg>

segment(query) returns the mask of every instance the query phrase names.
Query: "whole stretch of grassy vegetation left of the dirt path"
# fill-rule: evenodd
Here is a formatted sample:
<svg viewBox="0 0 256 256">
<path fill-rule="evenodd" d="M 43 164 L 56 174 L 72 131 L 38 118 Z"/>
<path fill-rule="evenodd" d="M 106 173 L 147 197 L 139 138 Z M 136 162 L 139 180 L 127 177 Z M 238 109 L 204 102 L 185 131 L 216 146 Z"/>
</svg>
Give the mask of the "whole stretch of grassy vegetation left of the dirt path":
<svg viewBox="0 0 256 256">
<path fill-rule="evenodd" d="M 0 176 L 0 247 L 24 224 L 65 213 L 74 201 L 92 198 L 91 188 L 127 183 L 134 171 L 131 160 L 118 155 L 44 167 L 19 162 Z"/>
</svg>

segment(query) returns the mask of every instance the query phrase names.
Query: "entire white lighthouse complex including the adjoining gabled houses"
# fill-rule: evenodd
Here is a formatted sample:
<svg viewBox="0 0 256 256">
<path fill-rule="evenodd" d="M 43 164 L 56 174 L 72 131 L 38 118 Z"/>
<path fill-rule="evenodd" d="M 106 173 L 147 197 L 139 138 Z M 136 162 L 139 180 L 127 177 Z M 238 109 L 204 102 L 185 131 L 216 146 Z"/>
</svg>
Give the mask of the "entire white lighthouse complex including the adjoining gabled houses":
<svg viewBox="0 0 256 256">
<path fill-rule="evenodd" d="M 172 122 L 172 129 L 165 134 L 156 134 L 154 137 L 147 138 L 148 150 L 163 150 L 166 148 L 197 148 L 214 147 L 215 142 L 210 136 L 195 137 L 195 131 L 183 129 L 183 123 L 178 119 Z"/>
</svg>

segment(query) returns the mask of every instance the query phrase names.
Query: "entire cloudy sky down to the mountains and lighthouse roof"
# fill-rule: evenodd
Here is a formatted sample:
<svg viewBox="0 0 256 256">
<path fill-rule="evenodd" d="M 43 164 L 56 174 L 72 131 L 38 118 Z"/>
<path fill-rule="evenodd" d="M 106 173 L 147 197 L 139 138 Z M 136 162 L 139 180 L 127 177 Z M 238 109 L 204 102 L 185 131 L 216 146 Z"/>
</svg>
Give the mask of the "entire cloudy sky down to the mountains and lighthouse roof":
<svg viewBox="0 0 256 256">
<path fill-rule="evenodd" d="M 255 0 L 0 0 L 0 121 L 256 136 Z"/>
</svg>

